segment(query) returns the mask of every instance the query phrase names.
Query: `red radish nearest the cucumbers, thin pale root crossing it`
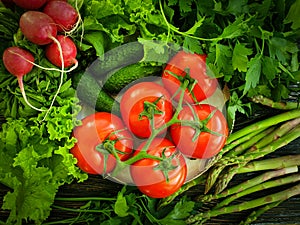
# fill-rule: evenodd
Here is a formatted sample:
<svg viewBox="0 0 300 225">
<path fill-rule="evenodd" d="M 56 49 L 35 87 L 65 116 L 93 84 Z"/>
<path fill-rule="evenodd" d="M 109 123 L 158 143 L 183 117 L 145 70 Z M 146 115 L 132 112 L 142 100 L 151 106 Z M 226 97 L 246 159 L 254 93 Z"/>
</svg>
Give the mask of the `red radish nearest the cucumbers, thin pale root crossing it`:
<svg viewBox="0 0 300 225">
<path fill-rule="evenodd" d="M 76 64 L 77 48 L 72 39 L 64 35 L 57 35 L 56 38 L 61 45 L 64 67 L 70 67 L 73 64 Z M 61 67 L 62 61 L 60 58 L 59 47 L 56 42 L 47 45 L 45 54 L 47 59 L 53 65 Z"/>
</svg>

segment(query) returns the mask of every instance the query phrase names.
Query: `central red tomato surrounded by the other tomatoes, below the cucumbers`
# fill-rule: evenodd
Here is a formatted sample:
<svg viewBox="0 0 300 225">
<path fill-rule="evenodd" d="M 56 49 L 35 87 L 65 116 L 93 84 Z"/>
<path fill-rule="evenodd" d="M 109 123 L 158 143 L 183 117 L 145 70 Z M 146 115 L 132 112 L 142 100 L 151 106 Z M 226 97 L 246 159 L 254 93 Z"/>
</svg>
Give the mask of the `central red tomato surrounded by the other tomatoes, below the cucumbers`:
<svg viewBox="0 0 300 225">
<path fill-rule="evenodd" d="M 140 82 L 131 86 L 123 94 L 120 108 L 125 125 L 140 138 L 151 135 L 151 121 L 154 128 L 159 128 L 173 115 L 170 94 L 154 82 Z"/>
</svg>

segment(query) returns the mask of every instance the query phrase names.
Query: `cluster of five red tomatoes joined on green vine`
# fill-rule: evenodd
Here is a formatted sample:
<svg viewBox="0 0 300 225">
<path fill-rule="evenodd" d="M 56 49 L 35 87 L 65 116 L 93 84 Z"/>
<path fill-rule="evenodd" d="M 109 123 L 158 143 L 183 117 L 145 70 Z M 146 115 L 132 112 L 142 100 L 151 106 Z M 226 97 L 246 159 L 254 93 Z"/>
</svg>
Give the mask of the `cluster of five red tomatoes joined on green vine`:
<svg viewBox="0 0 300 225">
<path fill-rule="evenodd" d="M 111 176 L 129 166 L 142 193 L 173 194 L 186 180 L 186 158 L 211 158 L 225 144 L 226 118 L 217 107 L 201 103 L 217 86 L 206 73 L 204 55 L 178 52 L 160 81 L 137 81 L 124 91 L 120 116 L 96 112 L 82 120 L 73 132 L 77 165 Z"/>
</svg>

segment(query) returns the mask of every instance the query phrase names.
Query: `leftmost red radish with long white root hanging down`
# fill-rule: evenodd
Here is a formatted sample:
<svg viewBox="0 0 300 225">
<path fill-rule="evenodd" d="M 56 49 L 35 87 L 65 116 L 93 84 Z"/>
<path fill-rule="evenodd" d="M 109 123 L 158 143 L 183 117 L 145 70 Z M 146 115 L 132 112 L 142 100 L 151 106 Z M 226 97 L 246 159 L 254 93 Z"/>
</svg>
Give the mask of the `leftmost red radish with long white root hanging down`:
<svg viewBox="0 0 300 225">
<path fill-rule="evenodd" d="M 16 76 L 18 79 L 20 91 L 22 96 L 31 108 L 37 111 L 45 111 L 43 109 L 38 109 L 31 105 L 26 97 L 25 89 L 23 85 L 23 76 L 28 74 L 33 68 L 34 57 L 33 55 L 22 48 L 19 47 L 9 47 L 4 50 L 3 53 L 3 63 L 5 68 L 10 72 L 12 75 Z"/>
</svg>

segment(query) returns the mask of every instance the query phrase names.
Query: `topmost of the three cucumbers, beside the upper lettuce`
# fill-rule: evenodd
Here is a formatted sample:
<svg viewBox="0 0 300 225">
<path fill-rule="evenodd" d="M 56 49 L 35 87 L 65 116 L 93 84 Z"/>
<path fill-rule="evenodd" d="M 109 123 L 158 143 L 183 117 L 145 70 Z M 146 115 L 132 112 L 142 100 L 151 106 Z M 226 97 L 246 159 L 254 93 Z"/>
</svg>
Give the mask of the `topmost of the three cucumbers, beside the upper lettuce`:
<svg viewBox="0 0 300 225">
<path fill-rule="evenodd" d="M 129 42 L 113 48 L 96 59 L 87 71 L 96 79 L 103 78 L 108 72 L 139 62 L 144 57 L 143 45 L 139 42 Z"/>
</svg>

